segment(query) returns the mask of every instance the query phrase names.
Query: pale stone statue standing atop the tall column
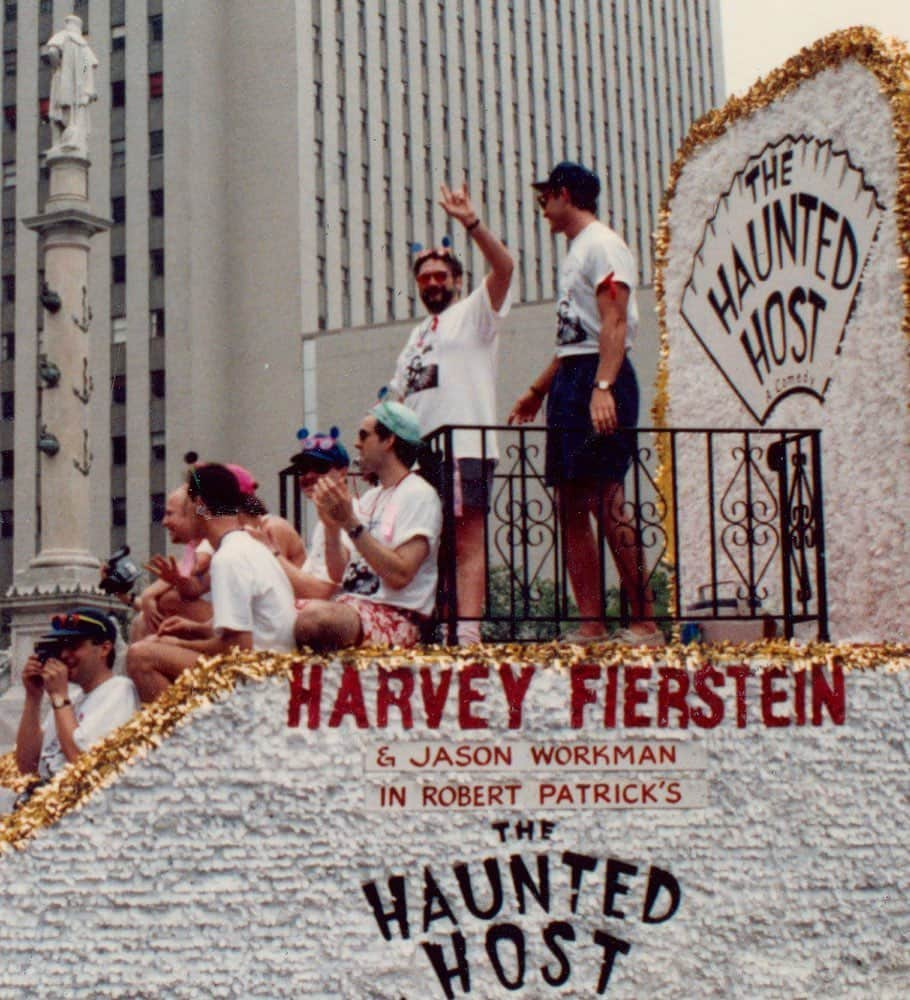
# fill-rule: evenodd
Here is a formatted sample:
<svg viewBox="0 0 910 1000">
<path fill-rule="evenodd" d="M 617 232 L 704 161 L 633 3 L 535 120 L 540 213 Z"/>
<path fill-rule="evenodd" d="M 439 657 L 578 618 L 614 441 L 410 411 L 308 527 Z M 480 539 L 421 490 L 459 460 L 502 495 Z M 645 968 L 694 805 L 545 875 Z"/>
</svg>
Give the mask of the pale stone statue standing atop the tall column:
<svg viewBox="0 0 910 1000">
<path fill-rule="evenodd" d="M 98 57 L 82 35 L 82 18 L 70 14 L 63 30 L 53 35 L 41 50 L 41 58 L 53 67 L 49 117 L 53 145 L 48 152 L 88 156 L 88 106 L 98 100 L 95 68 Z"/>
</svg>

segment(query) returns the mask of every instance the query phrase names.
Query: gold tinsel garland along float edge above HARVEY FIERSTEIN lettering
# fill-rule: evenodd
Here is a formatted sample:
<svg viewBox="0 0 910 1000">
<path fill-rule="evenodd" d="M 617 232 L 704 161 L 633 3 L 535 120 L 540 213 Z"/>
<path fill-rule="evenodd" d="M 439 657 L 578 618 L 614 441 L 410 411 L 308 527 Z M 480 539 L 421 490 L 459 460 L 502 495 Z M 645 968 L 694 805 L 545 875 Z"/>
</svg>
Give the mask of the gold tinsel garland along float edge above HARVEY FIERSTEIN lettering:
<svg viewBox="0 0 910 1000">
<path fill-rule="evenodd" d="M 48 784 L 38 788 L 23 806 L 0 819 L 0 854 L 22 847 L 45 827 L 66 813 L 81 808 L 98 789 L 110 785 L 131 763 L 141 760 L 198 709 L 226 698 L 241 681 L 265 681 L 289 677 L 294 663 L 343 662 L 359 669 L 393 669 L 401 666 L 460 668 L 482 663 L 491 669 L 502 663 L 534 664 L 560 670 L 577 663 L 604 666 L 669 666 L 695 670 L 709 665 L 749 663 L 757 670 L 789 666 L 805 670 L 816 664 L 840 663 L 844 670 L 893 673 L 910 667 L 910 645 L 888 643 L 806 643 L 784 639 L 752 643 L 712 643 L 664 647 L 626 646 L 601 643 L 579 646 L 568 643 L 476 646 L 461 649 L 430 646 L 420 650 L 381 650 L 363 647 L 344 650 L 331 660 L 299 654 L 233 652 L 185 671 L 175 684 L 126 725 L 115 730 L 77 761 L 63 768 Z M 21 789 L 29 784 L 19 775 L 13 754 L 0 758 L 0 785 Z"/>
</svg>

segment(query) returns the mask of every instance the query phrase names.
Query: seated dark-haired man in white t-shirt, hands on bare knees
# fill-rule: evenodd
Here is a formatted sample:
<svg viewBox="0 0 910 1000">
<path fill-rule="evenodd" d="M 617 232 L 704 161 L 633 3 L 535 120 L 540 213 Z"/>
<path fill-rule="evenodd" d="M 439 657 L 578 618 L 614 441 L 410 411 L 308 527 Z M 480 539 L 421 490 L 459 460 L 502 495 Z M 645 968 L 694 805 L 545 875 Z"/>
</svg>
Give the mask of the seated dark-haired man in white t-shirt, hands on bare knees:
<svg viewBox="0 0 910 1000">
<path fill-rule="evenodd" d="M 190 470 L 187 491 L 196 504 L 195 532 L 215 550 L 209 570 L 213 617 L 210 623 L 166 621 L 157 635 L 130 646 L 127 672 L 143 701 L 157 698 L 200 655 L 233 647 L 294 648 L 291 585 L 269 550 L 244 531 L 234 474 L 223 465 L 202 465 Z"/>
</svg>

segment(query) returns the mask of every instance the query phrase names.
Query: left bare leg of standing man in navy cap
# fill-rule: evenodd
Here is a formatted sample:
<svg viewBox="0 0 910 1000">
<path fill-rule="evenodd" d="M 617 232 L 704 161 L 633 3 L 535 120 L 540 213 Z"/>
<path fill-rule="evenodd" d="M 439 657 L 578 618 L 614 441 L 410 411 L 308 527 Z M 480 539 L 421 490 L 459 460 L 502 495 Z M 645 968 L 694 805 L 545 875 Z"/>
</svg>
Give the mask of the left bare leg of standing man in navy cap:
<svg viewBox="0 0 910 1000">
<path fill-rule="evenodd" d="M 596 491 L 580 483 L 561 483 L 558 502 L 569 582 L 578 613 L 587 619 L 578 631 L 596 638 L 606 634 L 600 553 L 591 523 L 596 510 Z"/>
</svg>

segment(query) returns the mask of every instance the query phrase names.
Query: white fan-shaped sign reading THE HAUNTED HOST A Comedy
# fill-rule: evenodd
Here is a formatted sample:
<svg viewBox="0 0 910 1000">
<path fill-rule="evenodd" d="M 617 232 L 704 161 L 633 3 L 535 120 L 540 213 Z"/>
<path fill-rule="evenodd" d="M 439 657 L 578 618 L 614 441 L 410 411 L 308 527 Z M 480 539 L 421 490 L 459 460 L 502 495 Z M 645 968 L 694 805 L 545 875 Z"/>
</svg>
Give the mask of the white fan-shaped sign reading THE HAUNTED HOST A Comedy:
<svg viewBox="0 0 910 1000">
<path fill-rule="evenodd" d="M 755 419 L 824 400 L 884 207 L 845 151 L 787 136 L 733 178 L 705 227 L 686 323 Z"/>
</svg>

